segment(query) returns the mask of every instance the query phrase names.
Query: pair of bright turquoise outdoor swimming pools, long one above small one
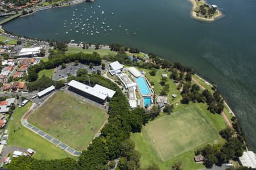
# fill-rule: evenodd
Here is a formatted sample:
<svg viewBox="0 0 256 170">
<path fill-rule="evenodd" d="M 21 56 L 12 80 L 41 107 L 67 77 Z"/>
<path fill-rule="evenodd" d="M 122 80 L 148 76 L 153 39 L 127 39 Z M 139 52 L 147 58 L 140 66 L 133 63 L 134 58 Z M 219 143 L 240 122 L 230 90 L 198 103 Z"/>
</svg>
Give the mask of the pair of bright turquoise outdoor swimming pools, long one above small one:
<svg viewBox="0 0 256 170">
<path fill-rule="evenodd" d="M 139 91 L 141 91 L 141 95 L 143 96 L 143 105 L 144 107 L 148 105 L 148 107 L 151 107 L 151 97 L 145 96 L 145 95 L 151 95 L 151 90 L 147 86 L 147 82 L 143 77 L 136 78 L 136 83 L 138 84 Z"/>
</svg>

